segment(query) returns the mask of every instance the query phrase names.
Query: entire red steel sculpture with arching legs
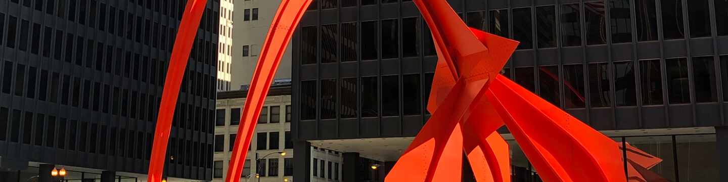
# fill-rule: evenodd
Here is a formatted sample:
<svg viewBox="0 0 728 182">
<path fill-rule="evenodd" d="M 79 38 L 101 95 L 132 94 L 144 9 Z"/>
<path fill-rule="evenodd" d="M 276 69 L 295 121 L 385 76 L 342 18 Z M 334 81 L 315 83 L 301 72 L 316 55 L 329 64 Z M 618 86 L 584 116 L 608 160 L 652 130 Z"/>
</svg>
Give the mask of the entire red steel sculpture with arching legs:
<svg viewBox="0 0 728 182">
<path fill-rule="evenodd" d="M 248 91 L 226 181 L 240 181 L 258 114 L 280 58 L 312 0 L 283 0 L 266 37 Z M 205 0 L 188 1 L 159 108 L 149 181 L 159 181 L 175 100 Z M 462 153 L 478 181 L 510 181 L 504 124 L 544 181 L 626 181 L 619 144 L 499 71 L 517 41 L 467 26 L 446 0 L 414 0 L 438 52 L 432 117 L 385 181 L 460 181 Z M 194 24 L 194 25 L 193 25 Z"/>
</svg>

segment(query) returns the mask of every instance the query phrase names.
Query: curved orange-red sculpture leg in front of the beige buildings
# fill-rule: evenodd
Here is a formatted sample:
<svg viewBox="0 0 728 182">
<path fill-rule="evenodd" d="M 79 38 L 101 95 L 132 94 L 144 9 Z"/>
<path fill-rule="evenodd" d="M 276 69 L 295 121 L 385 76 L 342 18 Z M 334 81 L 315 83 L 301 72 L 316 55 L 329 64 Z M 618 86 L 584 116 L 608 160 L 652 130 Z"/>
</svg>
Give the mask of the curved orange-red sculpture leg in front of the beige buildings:
<svg viewBox="0 0 728 182">
<path fill-rule="evenodd" d="M 270 90 L 270 84 L 280 64 L 280 59 L 288 46 L 293 31 L 296 30 L 298 21 L 304 15 L 312 0 L 284 0 L 278 7 L 278 12 L 273 19 L 266 41 L 263 44 L 256 71 L 253 73 L 253 81 L 250 83 L 248 96 L 245 98 L 245 106 L 240 116 L 240 127 L 238 127 L 238 138 L 235 138 L 235 145 L 228 167 L 226 181 L 240 181 L 242 168 L 245 165 L 245 155 L 248 154 L 250 140 L 256 130 L 258 116 L 265 102 L 266 95 Z"/>
</svg>

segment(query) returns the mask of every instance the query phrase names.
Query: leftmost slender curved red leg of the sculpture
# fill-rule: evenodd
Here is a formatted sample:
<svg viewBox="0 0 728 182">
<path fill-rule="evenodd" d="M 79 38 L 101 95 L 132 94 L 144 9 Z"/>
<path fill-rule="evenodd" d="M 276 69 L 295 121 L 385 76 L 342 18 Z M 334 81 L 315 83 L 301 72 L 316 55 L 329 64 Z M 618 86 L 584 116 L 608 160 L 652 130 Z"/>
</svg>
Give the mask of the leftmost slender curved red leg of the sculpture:
<svg viewBox="0 0 728 182">
<path fill-rule="evenodd" d="M 167 141 L 170 139 L 170 128 L 172 127 L 172 117 L 175 113 L 175 105 L 180 92 L 180 84 L 189 59 L 189 52 L 192 49 L 194 36 L 197 34 L 199 20 L 202 18 L 202 12 L 205 11 L 205 4 L 207 4 L 207 0 L 187 1 L 177 38 L 175 38 L 175 47 L 170 57 L 170 68 L 167 69 L 165 79 L 165 90 L 162 92 L 162 103 L 159 104 L 157 128 L 154 130 L 154 143 L 149 161 L 148 180 L 150 182 L 162 180 Z"/>
</svg>

